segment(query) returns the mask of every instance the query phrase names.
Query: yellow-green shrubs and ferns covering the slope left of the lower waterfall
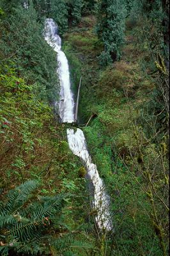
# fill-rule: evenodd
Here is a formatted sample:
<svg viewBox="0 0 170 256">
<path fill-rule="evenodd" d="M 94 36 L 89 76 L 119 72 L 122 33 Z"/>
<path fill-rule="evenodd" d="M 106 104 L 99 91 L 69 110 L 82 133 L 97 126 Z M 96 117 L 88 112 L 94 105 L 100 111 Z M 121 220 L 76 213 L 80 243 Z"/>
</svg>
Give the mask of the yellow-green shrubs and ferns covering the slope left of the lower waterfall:
<svg viewBox="0 0 170 256">
<path fill-rule="evenodd" d="M 84 255 L 94 243 L 86 229 L 79 228 L 88 214 L 81 165 L 65 141 L 64 125 L 53 121 L 49 106 L 35 95 L 35 84 L 18 77 L 13 66 L 12 62 L 1 66 L 0 76 L 1 188 L 6 191 L 27 179 L 37 181 L 27 181 L 10 191 L 8 198 L 2 195 L 1 254 L 50 255 L 62 248 L 63 255 Z M 38 196 L 34 192 L 32 196 L 42 180 Z M 61 191 L 72 193 L 61 198 L 61 205 L 66 204 L 62 214 L 56 196 Z"/>
</svg>

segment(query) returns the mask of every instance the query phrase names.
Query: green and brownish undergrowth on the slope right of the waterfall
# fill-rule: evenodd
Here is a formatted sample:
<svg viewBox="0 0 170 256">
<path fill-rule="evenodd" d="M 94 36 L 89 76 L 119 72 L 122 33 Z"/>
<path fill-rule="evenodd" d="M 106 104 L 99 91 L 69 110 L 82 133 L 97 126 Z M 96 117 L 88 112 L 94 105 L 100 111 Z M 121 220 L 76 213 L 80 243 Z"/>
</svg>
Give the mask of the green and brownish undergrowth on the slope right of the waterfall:
<svg viewBox="0 0 170 256">
<path fill-rule="evenodd" d="M 148 70 L 154 70 L 150 51 L 147 44 L 144 49 L 138 46 L 134 36 L 137 24 L 127 23 L 121 60 L 101 67 L 98 52 L 102 51 L 103 45 L 96 41 L 94 18 L 86 19 L 91 19 L 86 29 L 82 21 L 65 34 L 63 49 L 68 56 L 75 88 L 79 84 L 77 77 L 82 76 L 79 125 L 86 135 L 93 163 L 97 164 L 111 196 L 115 234 L 110 240 L 105 239 L 105 248 L 108 255 L 162 255 L 161 241 L 167 244 L 168 204 L 162 191 L 164 186 L 168 187 L 168 168 L 167 151 L 162 152 L 161 143 L 167 141 L 167 136 L 157 137 L 159 142 L 152 140 L 146 127 L 149 125 L 153 129 L 155 138 L 154 121 L 150 123 L 150 118 L 141 122 L 157 86 L 154 78 L 148 76 Z M 95 118 L 84 127 L 93 113 Z M 162 166 L 160 168 L 164 168 L 165 173 L 160 173 L 158 166 Z M 152 193 L 156 193 L 154 199 Z M 165 203 L 163 211 L 160 207 L 164 204 L 162 200 Z M 155 207 L 160 235 L 155 232 Z"/>
</svg>

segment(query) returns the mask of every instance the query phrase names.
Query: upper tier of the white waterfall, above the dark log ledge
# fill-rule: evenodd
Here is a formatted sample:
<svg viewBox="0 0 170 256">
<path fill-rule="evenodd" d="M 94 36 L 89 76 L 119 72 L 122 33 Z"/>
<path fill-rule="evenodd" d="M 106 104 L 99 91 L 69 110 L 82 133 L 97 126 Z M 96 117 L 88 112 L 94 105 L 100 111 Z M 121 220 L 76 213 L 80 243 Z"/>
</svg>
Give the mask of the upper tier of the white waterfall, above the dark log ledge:
<svg viewBox="0 0 170 256">
<path fill-rule="evenodd" d="M 58 52 L 58 74 L 61 85 L 58 102 L 59 116 L 62 122 L 73 123 L 75 122 L 74 100 L 71 91 L 68 60 L 65 53 L 61 51 L 61 38 L 58 35 L 58 26 L 56 26 L 52 19 L 45 20 L 45 40 L 54 51 Z"/>
</svg>

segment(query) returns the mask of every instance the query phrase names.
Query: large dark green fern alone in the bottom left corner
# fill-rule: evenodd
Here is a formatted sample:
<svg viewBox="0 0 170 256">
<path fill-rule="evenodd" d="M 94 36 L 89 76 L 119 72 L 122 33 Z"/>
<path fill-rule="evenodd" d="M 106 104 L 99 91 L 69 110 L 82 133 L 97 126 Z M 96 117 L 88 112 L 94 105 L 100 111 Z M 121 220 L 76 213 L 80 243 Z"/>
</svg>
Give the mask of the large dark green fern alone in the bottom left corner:
<svg viewBox="0 0 170 256">
<path fill-rule="evenodd" d="M 56 214 L 59 217 L 64 201 L 62 195 L 53 198 L 39 196 L 39 199 L 33 200 L 31 193 L 37 187 L 36 180 L 28 180 L 9 191 L 7 202 L 1 202 L 1 255 L 10 252 L 36 255 L 47 250 L 45 247 L 48 246 L 50 234 L 49 237 L 47 235 L 54 225 L 52 219 Z M 45 244 L 40 237 L 43 243 L 46 240 Z"/>
</svg>

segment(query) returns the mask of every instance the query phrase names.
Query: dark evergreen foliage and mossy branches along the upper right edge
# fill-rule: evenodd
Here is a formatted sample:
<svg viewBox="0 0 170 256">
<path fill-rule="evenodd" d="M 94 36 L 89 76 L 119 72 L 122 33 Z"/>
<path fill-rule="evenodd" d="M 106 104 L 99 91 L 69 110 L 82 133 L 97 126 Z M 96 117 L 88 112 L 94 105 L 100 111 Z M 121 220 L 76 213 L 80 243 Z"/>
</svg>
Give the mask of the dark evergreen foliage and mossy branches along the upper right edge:
<svg viewBox="0 0 170 256">
<path fill-rule="evenodd" d="M 167 69 L 169 66 L 169 37 L 167 36 L 167 3 L 166 1 L 143 1 L 135 14 L 138 22 L 134 28 L 137 37 L 137 47 L 145 52 L 143 67 L 155 81 L 155 88 L 151 99 L 144 105 L 145 120 L 153 122 L 153 116 L 157 118 L 154 125 L 156 131 L 167 131 L 169 120 L 169 90 L 167 89 Z M 161 36 L 160 36 L 161 35 Z M 162 111 L 162 109 L 164 109 Z M 141 117 L 142 119 L 142 117 Z M 151 121 L 152 120 L 152 121 Z M 141 120 L 143 123 L 143 121 Z M 144 122 L 144 129 L 150 133 L 149 126 Z M 150 131 L 149 131 L 150 130 Z M 152 130 L 153 131 L 153 130 Z M 154 131 L 155 132 L 155 131 Z"/>
</svg>

